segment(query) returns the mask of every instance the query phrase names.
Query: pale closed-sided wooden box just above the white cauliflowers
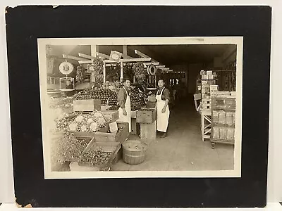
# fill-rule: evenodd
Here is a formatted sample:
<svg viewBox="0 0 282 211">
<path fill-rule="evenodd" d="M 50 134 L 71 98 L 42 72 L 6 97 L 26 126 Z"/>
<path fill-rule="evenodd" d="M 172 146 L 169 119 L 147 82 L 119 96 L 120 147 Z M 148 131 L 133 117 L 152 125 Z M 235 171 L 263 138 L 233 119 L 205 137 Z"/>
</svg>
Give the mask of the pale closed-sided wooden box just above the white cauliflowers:
<svg viewBox="0 0 282 211">
<path fill-rule="evenodd" d="M 73 101 L 74 112 L 92 112 L 94 110 L 101 110 L 100 99 L 89 99 L 89 100 L 75 100 Z"/>
</svg>

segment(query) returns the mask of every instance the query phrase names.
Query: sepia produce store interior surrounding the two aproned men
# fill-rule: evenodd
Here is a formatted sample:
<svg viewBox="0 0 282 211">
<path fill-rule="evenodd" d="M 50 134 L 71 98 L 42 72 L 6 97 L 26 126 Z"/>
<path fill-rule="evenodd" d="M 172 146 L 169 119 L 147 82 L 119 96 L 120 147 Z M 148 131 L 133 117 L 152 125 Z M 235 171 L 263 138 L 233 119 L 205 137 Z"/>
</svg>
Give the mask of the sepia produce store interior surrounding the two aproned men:
<svg viewBox="0 0 282 211">
<path fill-rule="evenodd" d="M 52 171 L 233 170 L 236 54 L 233 44 L 48 45 Z M 131 121 L 118 122 L 125 78 Z M 170 94 L 165 137 L 156 126 L 159 79 Z M 100 115 L 99 129 L 81 123 Z"/>
</svg>

